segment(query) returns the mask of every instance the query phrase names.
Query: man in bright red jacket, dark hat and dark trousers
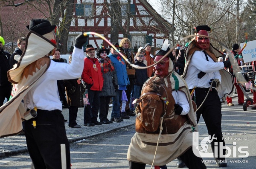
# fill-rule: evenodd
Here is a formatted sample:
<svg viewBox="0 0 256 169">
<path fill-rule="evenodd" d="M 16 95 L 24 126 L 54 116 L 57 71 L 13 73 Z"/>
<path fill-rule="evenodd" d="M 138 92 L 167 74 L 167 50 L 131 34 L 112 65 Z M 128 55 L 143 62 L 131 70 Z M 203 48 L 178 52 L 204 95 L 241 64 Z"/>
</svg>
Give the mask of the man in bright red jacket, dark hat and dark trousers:
<svg viewBox="0 0 256 169">
<path fill-rule="evenodd" d="M 85 82 L 89 103 L 84 105 L 84 126 L 102 125 L 97 121 L 99 112 L 99 92 L 103 87 L 103 76 L 98 59 L 95 58 L 93 45 L 86 46 L 82 79 Z"/>
</svg>

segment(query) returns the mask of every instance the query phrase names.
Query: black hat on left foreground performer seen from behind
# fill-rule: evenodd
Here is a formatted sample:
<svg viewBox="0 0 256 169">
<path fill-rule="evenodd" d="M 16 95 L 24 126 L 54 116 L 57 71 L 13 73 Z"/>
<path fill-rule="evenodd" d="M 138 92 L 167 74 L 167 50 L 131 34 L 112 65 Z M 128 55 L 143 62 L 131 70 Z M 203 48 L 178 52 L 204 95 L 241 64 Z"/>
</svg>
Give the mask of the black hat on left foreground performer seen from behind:
<svg viewBox="0 0 256 169">
<path fill-rule="evenodd" d="M 56 28 L 56 25 L 51 25 L 48 20 L 44 19 L 32 19 L 29 25 L 26 26 L 29 31 L 35 31 L 40 35 L 47 34 Z"/>
</svg>

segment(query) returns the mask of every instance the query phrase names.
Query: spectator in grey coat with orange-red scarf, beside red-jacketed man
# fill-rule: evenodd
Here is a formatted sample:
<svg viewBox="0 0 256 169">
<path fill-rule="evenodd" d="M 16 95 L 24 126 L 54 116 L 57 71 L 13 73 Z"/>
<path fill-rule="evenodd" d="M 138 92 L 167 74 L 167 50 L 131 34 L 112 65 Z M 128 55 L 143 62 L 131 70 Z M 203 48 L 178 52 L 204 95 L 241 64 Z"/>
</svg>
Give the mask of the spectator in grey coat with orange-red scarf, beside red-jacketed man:
<svg viewBox="0 0 256 169">
<path fill-rule="evenodd" d="M 96 56 L 99 60 L 104 79 L 102 91 L 99 93 L 99 120 L 103 124 L 113 123 L 107 118 L 109 102 L 111 97 L 116 96 L 116 89 L 119 88 L 117 85 L 116 70 L 113 62 L 111 62 L 110 58 L 108 57 L 109 51 L 110 49 L 106 48 L 105 46 L 101 46 L 96 51 Z"/>
</svg>

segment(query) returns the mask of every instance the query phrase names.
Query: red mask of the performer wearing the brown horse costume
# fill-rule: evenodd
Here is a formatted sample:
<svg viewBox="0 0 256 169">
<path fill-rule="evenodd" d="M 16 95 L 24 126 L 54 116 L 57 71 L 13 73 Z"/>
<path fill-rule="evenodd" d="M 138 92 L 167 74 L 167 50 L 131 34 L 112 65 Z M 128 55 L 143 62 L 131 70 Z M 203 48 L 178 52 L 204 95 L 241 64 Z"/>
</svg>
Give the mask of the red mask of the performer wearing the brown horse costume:
<svg viewBox="0 0 256 169">
<path fill-rule="evenodd" d="M 155 56 L 154 63 L 158 62 L 162 57 L 163 57 L 162 55 Z M 153 71 L 157 76 L 165 77 L 169 73 L 168 70 L 169 70 L 169 58 L 165 57 L 160 63 L 158 63 L 157 65 L 154 65 Z"/>
</svg>

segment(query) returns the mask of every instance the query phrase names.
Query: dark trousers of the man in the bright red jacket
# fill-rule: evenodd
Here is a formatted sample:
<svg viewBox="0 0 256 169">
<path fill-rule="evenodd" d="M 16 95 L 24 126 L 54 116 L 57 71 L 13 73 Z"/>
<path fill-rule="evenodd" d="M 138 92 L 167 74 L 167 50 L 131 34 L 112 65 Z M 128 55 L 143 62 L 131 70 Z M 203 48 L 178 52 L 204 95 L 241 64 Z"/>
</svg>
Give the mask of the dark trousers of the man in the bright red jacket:
<svg viewBox="0 0 256 169">
<path fill-rule="evenodd" d="M 84 124 L 96 122 L 99 112 L 99 91 L 87 91 L 90 104 L 84 105 Z"/>
</svg>

